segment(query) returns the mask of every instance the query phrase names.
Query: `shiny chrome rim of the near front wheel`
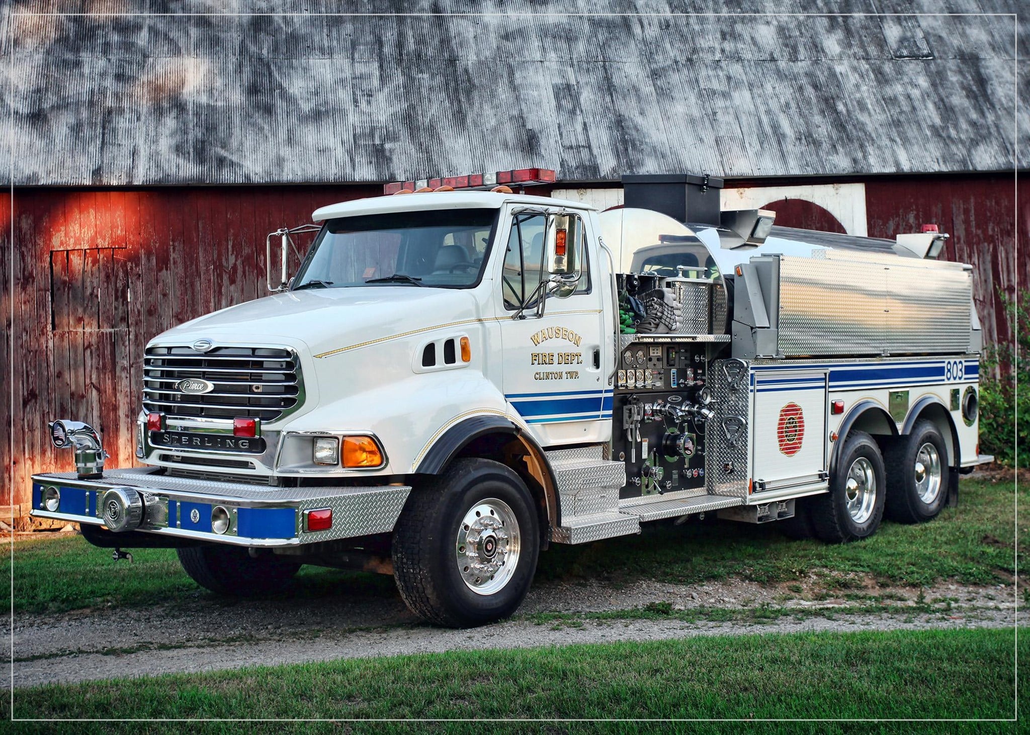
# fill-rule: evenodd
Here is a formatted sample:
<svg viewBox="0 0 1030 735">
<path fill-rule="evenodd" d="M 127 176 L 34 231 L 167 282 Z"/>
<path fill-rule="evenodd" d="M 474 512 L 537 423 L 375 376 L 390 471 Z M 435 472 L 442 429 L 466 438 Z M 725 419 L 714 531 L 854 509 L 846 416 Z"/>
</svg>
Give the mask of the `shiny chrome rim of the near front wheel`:
<svg viewBox="0 0 1030 735">
<path fill-rule="evenodd" d="M 492 595 L 511 581 L 521 551 L 518 520 L 504 500 L 480 500 L 457 528 L 454 556 L 465 586 Z"/>
</svg>

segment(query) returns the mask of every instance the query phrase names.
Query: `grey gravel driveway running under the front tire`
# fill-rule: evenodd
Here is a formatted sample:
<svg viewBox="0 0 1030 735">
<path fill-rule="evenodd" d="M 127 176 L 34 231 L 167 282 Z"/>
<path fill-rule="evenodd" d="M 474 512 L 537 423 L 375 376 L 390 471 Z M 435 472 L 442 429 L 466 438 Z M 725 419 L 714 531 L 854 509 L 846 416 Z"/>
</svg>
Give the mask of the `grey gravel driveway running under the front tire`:
<svg viewBox="0 0 1030 735">
<path fill-rule="evenodd" d="M 1016 621 L 1010 585 L 941 585 L 923 590 L 922 597 L 914 589 L 876 588 L 864 592 L 879 599 L 864 600 L 854 595 L 851 600 L 822 599 L 825 593 L 813 594 L 816 589 L 815 583 L 802 590 L 746 582 L 542 584 L 514 619 L 473 630 L 424 625 L 392 591 L 331 601 L 227 601 L 204 595 L 151 608 L 20 614 L 13 626 L 14 686 L 460 649 L 755 632 L 1006 627 Z M 884 597 L 893 611 L 877 607 Z M 634 608 L 647 605 L 668 615 L 640 619 Z M 637 618 L 589 616 L 616 610 L 630 610 L 627 616 Z M 753 615 L 755 610 L 761 615 Z M 572 620 L 541 615 L 550 612 L 582 615 Z M 0 686 L 9 681 L 9 667 L 3 666 Z"/>
</svg>

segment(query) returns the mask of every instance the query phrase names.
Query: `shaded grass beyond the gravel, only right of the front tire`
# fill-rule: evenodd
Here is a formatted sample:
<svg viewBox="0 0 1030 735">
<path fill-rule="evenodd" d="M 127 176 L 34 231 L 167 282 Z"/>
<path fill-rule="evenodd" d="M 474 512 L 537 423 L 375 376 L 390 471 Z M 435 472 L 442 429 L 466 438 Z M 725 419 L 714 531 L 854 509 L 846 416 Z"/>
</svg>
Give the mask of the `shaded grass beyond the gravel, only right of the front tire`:
<svg viewBox="0 0 1030 735">
<path fill-rule="evenodd" d="M 1030 535 L 1030 491 L 1021 487 L 1021 532 Z M 826 570 L 828 588 L 849 582 L 842 574 L 871 575 L 881 584 L 932 585 L 954 580 L 968 585 L 1011 583 L 1015 571 L 1015 510 L 1011 482 L 965 479 L 959 506 L 932 523 L 885 522 L 858 544 L 826 545 L 784 536 L 775 523 L 689 522 L 657 525 L 639 536 L 582 547 L 555 546 L 542 555 L 538 580 L 647 577 L 698 583 L 730 576 L 759 583 L 803 580 Z M 1021 555 L 1022 561 L 1022 555 Z"/>
</svg>

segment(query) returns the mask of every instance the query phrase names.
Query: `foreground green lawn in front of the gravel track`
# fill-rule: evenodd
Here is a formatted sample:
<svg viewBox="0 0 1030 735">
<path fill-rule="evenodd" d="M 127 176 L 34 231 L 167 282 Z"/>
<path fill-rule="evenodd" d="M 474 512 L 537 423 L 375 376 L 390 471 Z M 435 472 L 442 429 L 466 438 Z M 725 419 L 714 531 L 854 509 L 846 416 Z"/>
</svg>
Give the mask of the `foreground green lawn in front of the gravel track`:
<svg viewBox="0 0 1030 735">
<path fill-rule="evenodd" d="M 253 667 L 18 690 L 14 715 L 1009 717 L 1014 635 L 697 637 Z"/>
</svg>

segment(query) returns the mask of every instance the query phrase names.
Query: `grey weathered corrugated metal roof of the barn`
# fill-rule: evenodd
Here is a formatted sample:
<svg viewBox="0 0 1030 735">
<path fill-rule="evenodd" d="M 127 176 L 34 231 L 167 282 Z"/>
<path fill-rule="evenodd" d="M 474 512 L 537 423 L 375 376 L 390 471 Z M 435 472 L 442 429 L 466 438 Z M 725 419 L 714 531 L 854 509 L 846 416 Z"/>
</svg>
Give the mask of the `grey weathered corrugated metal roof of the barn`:
<svg viewBox="0 0 1030 735">
<path fill-rule="evenodd" d="M 1015 13 L 1020 4 L 821 6 Z M 227 5 L 288 9 L 215 9 Z M 814 7 L 778 0 L 747 10 Z M 398 8 L 475 14 L 305 14 L 339 9 L 324 0 L 295 3 L 302 14 L 289 16 L 58 16 L 20 13 L 67 8 L 15 4 L 0 60 L 10 70 L 15 183 L 376 181 L 522 166 L 599 181 L 1014 165 L 1012 15 L 672 14 L 744 11 L 703 0 L 349 7 Z M 166 8 L 88 0 L 74 9 Z M 652 14 L 568 14 L 599 10 Z M 1025 34 L 1020 42 L 1030 58 Z M 1028 99 L 1030 69 L 1020 64 Z"/>
</svg>

